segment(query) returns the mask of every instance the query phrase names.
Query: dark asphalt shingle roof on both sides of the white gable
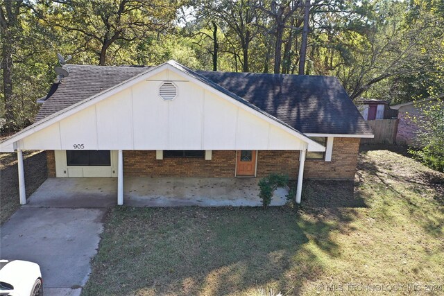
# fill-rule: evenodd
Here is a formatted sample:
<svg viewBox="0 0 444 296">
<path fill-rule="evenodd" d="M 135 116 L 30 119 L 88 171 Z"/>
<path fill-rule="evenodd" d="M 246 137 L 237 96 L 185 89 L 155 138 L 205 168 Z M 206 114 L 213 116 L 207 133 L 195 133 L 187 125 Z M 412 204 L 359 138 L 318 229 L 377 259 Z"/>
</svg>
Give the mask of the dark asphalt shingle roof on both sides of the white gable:
<svg viewBox="0 0 444 296">
<path fill-rule="evenodd" d="M 36 121 L 143 73 L 149 67 L 64 66 L 69 76 L 53 85 Z M 234 94 L 303 133 L 373 134 L 339 80 L 328 76 L 192 71 L 225 94 Z"/>
</svg>

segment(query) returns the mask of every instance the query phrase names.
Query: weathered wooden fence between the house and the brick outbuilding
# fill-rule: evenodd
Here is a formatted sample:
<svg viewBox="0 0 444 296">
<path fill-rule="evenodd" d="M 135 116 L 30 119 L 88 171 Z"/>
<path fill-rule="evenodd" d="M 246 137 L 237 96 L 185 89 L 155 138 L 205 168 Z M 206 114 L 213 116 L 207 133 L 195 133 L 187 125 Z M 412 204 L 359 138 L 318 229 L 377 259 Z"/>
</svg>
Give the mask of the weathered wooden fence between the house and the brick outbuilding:
<svg viewBox="0 0 444 296">
<path fill-rule="evenodd" d="M 376 119 L 367 121 L 373 130 L 373 139 L 361 139 L 362 144 L 393 144 L 398 131 L 398 119 Z"/>
</svg>

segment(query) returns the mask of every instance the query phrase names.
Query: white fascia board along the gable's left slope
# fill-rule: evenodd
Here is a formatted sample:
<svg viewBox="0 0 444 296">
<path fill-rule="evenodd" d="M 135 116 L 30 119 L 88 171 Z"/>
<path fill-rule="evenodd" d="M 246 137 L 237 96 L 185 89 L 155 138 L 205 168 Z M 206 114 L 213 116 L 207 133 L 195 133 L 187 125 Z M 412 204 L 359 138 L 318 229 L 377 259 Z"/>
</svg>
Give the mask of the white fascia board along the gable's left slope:
<svg viewBox="0 0 444 296">
<path fill-rule="evenodd" d="M 121 92 L 124 89 L 127 89 L 128 87 L 131 87 L 138 82 L 141 82 L 143 80 L 146 80 L 147 77 L 153 76 L 156 73 L 159 73 L 160 71 L 164 70 L 164 67 L 167 67 L 167 64 L 161 64 L 160 66 L 151 68 L 146 70 L 143 73 L 140 73 L 138 76 L 135 76 L 133 78 L 130 78 L 129 80 L 123 81 L 119 83 L 118 85 L 115 85 L 114 87 L 110 87 L 109 89 L 105 89 L 105 91 L 100 92 L 99 94 L 95 94 L 94 96 L 91 96 L 83 101 L 80 101 L 74 105 L 71 105 L 69 107 L 66 107 L 63 110 L 60 110 L 59 112 L 56 112 L 54 114 L 51 114 L 41 121 L 37 121 L 37 123 L 34 123 L 33 125 L 29 125 L 27 128 L 24 128 L 23 130 L 20 130 L 19 132 L 13 134 L 8 139 L 0 142 L 0 146 L 8 146 L 10 143 L 15 143 L 16 141 L 19 141 L 23 139 L 24 137 L 27 137 L 30 134 L 33 134 L 34 132 L 38 132 L 39 130 L 42 130 L 44 128 L 47 128 L 49 125 L 56 123 L 58 121 L 61 121 L 62 119 L 67 118 L 68 116 L 75 114 L 81 110 L 84 110 L 85 108 L 94 105 L 96 103 L 99 103 L 100 101 L 104 100 L 105 98 L 108 98 L 114 94 L 117 94 L 118 92 Z"/>
</svg>

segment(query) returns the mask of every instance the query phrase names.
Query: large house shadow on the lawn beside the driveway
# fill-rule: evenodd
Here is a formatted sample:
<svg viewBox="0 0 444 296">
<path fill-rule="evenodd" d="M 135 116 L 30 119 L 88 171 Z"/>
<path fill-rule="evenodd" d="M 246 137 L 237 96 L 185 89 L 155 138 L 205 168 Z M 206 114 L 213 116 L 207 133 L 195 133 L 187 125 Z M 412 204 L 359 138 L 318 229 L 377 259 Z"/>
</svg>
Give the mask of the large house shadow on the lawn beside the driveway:
<svg viewBox="0 0 444 296">
<path fill-rule="evenodd" d="M 310 242 L 336 256 L 336 228 L 287 207 L 116 208 L 83 295 L 298 295 L 323 270 Z"/>
</svg>

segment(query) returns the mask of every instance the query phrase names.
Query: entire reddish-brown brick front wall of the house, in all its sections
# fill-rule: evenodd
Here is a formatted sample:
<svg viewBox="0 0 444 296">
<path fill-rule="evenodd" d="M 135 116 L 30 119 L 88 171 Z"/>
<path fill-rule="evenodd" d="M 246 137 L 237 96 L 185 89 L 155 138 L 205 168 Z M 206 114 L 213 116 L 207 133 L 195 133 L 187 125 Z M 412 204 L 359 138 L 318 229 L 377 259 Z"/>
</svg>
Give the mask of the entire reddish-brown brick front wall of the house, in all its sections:
<svg viewBox="0 0 444 296">
<path fill-rule="evenodd" d="M 305 161 L 304 178 L 353 180 L 355 177 L 359 138 L 334 138 L 332 162 Z M 48 177 L 56 177 L 53 150 L 46 151 Z M 234 177 L 235 150 L 213 150 L 212 160 L 204 158 L 155 159 L 155 150 L 123 151 L 123 174 L 127 177 Z M 259 150 L 257 177 L 269 173 L 286 173 L 298 177 L 298 150 Z"/>
</svg>

